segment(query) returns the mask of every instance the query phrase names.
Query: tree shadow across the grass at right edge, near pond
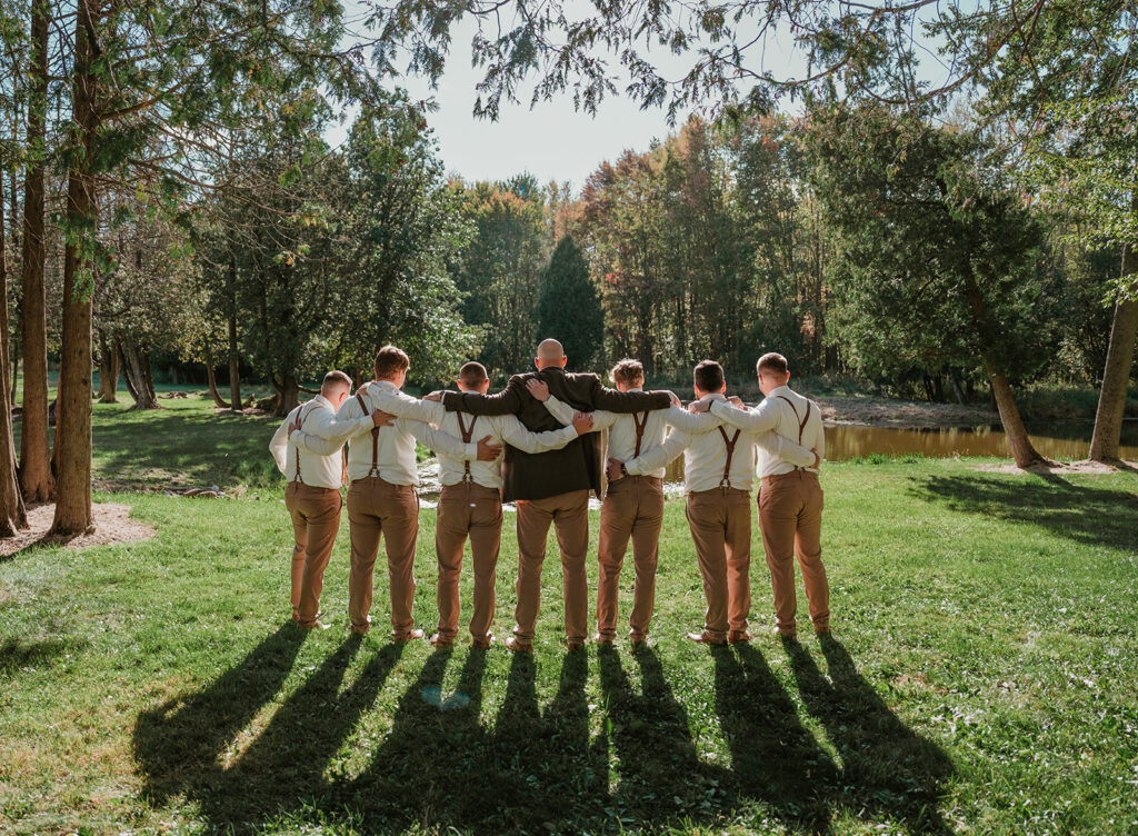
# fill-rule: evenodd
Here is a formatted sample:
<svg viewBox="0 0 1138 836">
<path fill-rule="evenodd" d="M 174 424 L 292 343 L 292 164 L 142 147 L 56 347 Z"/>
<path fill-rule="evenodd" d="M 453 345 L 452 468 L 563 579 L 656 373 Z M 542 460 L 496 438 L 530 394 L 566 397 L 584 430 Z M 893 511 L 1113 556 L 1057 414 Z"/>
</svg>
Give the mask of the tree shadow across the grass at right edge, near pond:
<svg viewBox="0 0 1138 836">
<path fill-rule="evenodd" d="M 1063 480 L 1000 476 L 925 476 L 912 492 L 943 501 L 951 510 L 1042 525 L 1094 546 L 1138 549 L 1138 495 Z"/>
</svg>

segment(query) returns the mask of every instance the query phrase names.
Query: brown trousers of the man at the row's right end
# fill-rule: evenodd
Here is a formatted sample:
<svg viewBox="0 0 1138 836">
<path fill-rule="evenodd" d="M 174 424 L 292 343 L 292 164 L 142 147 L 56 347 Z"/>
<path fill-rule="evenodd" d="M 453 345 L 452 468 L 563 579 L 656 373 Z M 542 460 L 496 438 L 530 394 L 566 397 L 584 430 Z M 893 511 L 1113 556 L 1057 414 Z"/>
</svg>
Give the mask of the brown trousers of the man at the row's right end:
<svg viewBox="0 0 1138 836">
<path fill-rule="evenodd" d="M 802 567 L 802 583 L 810 604 L 814 629 L 830 629 L 830 583 L 822 565 L 822 485 L 818 475 L 794 470 L 762 480 L 759 493 L 759 526 L 762 548 L 770 567 L 770 587 L 775 596 L 778 632 L 793 636 L 794 555 Z"/>
</svg>

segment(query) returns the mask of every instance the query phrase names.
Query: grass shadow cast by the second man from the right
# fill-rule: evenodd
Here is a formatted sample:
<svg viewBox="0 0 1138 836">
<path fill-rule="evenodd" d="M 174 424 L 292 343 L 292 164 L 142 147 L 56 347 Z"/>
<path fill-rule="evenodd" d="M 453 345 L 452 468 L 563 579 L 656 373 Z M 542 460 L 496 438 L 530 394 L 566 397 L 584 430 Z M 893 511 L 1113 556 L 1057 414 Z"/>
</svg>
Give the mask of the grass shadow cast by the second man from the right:
<svg viewBox="0 0 1138 836">
<path fill-rule="evenodd" d="M 838 770 L 790 695 L 748 644 L 712 648 L 711 656 L 716 713 L 739 792 L 761 801 L 789 829 L 828 831 Z"/>
</svg>

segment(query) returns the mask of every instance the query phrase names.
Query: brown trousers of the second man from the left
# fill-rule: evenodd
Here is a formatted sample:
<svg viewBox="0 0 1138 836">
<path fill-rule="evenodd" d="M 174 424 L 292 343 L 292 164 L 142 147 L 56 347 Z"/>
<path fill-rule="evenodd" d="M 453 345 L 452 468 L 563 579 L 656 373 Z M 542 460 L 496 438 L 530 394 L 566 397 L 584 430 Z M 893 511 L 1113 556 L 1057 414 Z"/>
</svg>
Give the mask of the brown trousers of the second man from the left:
<svg viewBox="0 0 1138 836">
<path fill-rule="evenodd" d="M 391 593 L 391 634 L 403 636 L 415 625 L 411 606 L 415 599 L 419 494 L 411 485 L 393 485 L 378 476 L 355 480 L 348 487 L 348 523 L 352 531 L 352 572 L 348 575 L 352 629 L 366 632 L 371 625 L 368 610 L 371 609 L 372 572 L 382 535 Z"/>
</svg>

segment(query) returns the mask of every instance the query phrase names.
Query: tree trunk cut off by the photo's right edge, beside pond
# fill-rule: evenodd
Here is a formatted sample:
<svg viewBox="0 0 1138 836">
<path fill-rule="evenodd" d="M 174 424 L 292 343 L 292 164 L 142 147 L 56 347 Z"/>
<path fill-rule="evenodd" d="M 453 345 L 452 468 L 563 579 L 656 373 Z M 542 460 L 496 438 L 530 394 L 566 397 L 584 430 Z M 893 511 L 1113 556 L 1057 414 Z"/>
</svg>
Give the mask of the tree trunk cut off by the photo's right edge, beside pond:
<svg viewBox="0 0 1138 836">
<path fill-rule="evenodd" d="M 1132 206 L 1135 214 L 1138 215 L 1138 198 L 1133 200 Z M 1135 273 L 1138 273 L 1138 248 L 1128 244 L 1122 248 L 1122 274 Z M 1130 383 L 1136 339 L 1138 339 L 1138 300 L 1119 300 L 1114 304 L 1111 344 L 1106 350 L 1103 388 L 1098 395 L 1098 411 L 1095 413 L 1095 433 L 1090 439 L 1088 458 L 1094 461 L 1118 461 L 1119 442 L 1122 439 L 1122 416 L 1127 408 L 1127 386 Z"/>
</svg>

